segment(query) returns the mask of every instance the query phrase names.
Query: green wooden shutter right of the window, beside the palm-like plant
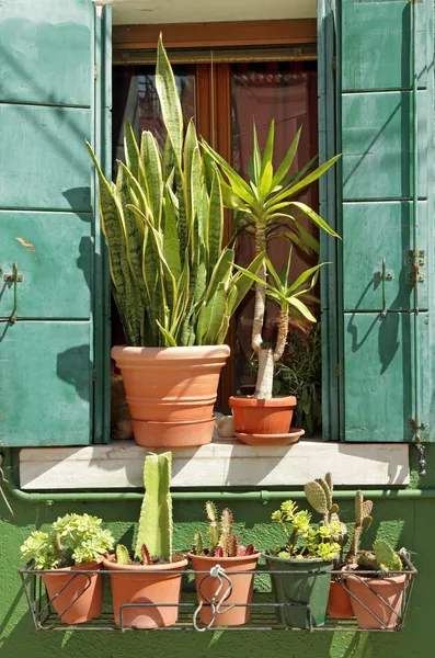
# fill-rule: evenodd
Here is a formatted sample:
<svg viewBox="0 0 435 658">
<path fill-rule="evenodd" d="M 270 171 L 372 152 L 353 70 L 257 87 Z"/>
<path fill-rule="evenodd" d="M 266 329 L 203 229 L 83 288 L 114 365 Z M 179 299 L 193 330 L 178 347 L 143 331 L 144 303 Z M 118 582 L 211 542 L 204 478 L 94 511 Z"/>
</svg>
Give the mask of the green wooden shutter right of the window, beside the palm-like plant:
<svg viewBox="0 0 435 658">
<path fill-rule="evenodd" d="M 323 245 L 327 436 L 413 441 L 420 420 L 431 440 L 433 2 L 322 0 L 319 29 L 321 149 L 343 154 L 322 185 L 343 236 Z"/>
</svg>

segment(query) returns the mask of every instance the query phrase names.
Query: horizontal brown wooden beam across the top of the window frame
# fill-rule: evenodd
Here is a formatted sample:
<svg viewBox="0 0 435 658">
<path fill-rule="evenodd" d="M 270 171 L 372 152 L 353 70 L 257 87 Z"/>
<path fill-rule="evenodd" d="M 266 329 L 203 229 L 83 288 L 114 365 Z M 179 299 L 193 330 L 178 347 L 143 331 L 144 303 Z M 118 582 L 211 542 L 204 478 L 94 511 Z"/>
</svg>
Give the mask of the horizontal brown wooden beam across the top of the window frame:
<svg viewBox="0 0 435 658">
<path fill-rule="evenodd" d="M 317 43 L 316 19 L 115 25 L 113 49 L 153 49 L 159 34 L 167 48 L 277 46 Z"/>
</svg>

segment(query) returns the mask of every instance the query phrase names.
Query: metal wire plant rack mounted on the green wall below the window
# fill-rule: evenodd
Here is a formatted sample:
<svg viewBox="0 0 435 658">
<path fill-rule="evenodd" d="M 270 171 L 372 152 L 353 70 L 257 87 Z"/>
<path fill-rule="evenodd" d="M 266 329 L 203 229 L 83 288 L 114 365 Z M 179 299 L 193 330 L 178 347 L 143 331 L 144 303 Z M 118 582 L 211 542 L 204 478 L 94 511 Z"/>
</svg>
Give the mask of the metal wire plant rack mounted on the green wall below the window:
<svg viewBox="0 0 435 658">
<path fill-rule="evenodd" d="M 185 591 L 186 588 L 183 588 L 180 603 L 176 603 L 176 602 L 174 602 L 174 603 L 139 602 L 139 603 L 128 603 L 128 604 L 122 605 L 119 609 L 119 625 L 117 625 L 114 620 L 114 614 L 113 614 L 113 609 L 112 609 L 112 598 L 110 595 L 110 592 L 111 592 L 110 571 L 101 569 L 101 570 L 75 570 L 73 572 L 71 572 L 69 570 L 62 571 L 61 569 L 57 569 L 56 571 L 59 574 L 67 572 L 67 574 L 71 575 L 68 582 L 64 586 L 64 588 L 58 592 L 57 595 L 59 595 L 79 576 L 85 576 L 88 578 L 88 583 L 84 587 L 84 589 L 79 593 L 79 595 L 73 601 L 71 601 L 70 605 L 67 609 L 65 609 L 64 611 L 60 612 L 60 614 L 55 611 L 55 609 L 53 606 L 53 602 L 48 598 L 48 593 L 46 591 L 46 588 L 44 586 L 43 578 L 42 578 L 44 576 L 44 574 L 53 574 L 53 571 L 37 570 L 37 569 L 33 568 L 32 564 L 28 564 L 25 567 L 19 569 L 19 574 L 21 577 L 23 590 L 25 592 L 28 609 L 30 609 L 32 620 L 33 620 L 36 631 L 67 631 L 67 629 L 69 629 L 69 631 L 71 631 L 71 629 L 73 629 L 73 631 L 118 631 L 118 632 L 139 631 L 136 627 L 130 628 L 130 627 L 125 626 L 124 614 L 123 614 L 125 610 L 135 609 L 135 608 L 141 608 L 141 609 L 158 608 L 158 606 L 161 608 L 164 605 L 173 608 L 174 605 L 178 605 L 179 606 L 178 622 L 172 626 L 153 628 L 152 631 L 169 631 L 169 632 L 176 632 L 176 631 L 203 631 L 203 632 L 211 631 L 213 632 L 213 631 L 218 631 L 218 629 L 225 629 L 225 631 L 308 631 L 311 633 L 313 633 L 313 632 L 323 632 L 324 633 L 324 632 L 336 632 L 336 631 L 340 631 L 340 632 L 359 631 L 359 632 L 368 632 L 368 633 L 374 633 L 374 632 L 375 633 L 376 632 L 391 633 L 391 632 L 399 632 L 403 628 L 408 609 L 409 609 L 409 604 L 410 604 L 412 589 L 414 586 L 415 576 L 417 574 L 415 567 L 412 565 L 412 563 L 410 561 L 408 556 L 402 555 L 402 559 L 405 565 L 405 567 L 402 571 L 389 571 L 388 572 L 389 576 L 405 575 L 405 577 L 407 577 L 405 583 L 404 583 L 404 591 L 403 591 L 402 605 L 401 605 L 400 613 L 397 613 L 396 610 L 393 608 L 391 608 L 391 605 L 389 604 L 388 601 L 382 599 L 382 597 L 379 593 L 375 592 L 374 589 L 369 585 L 367 585 L 367 577 L 379 577 L 379 576 L 382 576 L 381 572 L 368 571 L 368 570 L 353 570 L 351 572 L 347 572 L 347 575 L 352 575 L 352 577 L 358 578 L 364 583 L 364 586 L 367 587 L 374 593 L 374 595 L 376 595 L 380 600 L 380 602 L 384 605 L 386 605 L 387 609 L 389 609 L 393 613 L 393 615 L 396 615 L 396 623 L 394 623 L 393 627 L 386 627 L 385 623 L 375 614 L 375 612 L 369 610 L 352 591 L 350 591 L 350 589 L 346 587 L 346 582 L 345 582 L 345 572 L 343 572 L 343 571 L 332 571 L 331 572 L 332 577 L 335 578 L 335 580 L 341 583 L 342 588 L 346 592 L 348 592 L 351 599 L 354 599 L 355 601 L 357 601 L 359 603 L 359 605 L 365 608 L 365 610 L 371 614 L 373 619 L 381 626 L 379 628 L 370 628 L 370 629 L 359 628 L 355 617 L 353 617 L 351 620 L 336 620 L 336 619 L 327 616 L 325 623 L 323 626 L 316 626 L 312 615 L 311 615 L 311 612 L 310 612 L 310 609 L 309 609 L 309 605 L 305 605 L 304 603 L 296 603 L 296 602 L 276 603 L 273 601 L 273 594 L 271 593 L 271 591 L 268 591 L 268 592 L 254 591 L 253 601 L 248 604 L 248 606 L 251 609 L 250 621 L 248 624 L 244 624 L 241 626 L 222 626 L 222 625 L 217 624 L 217 625 L 213 625 L 211 627 L 207 627 L 207 626 L 198 627 L 198 625 L 196 623 L 196 617 L 199 612 L 201 604 L 198 606 L 198 603 L 196 600 L 196 593 L 192 589 L 193 585 L 191 586 L 192 591 Z M 151 574 L 152 570 L 150 569 L 148 572 Z M 158 572 L 160 575 L 162 575 L 162 574 L 175 575 L 179 572 L 179 574 L 183 574 L 184 577 L 188 577 L 188 576 L 193 577 L 197 574 L 201 574 L 204 576 L 202 582 L 204 582 L 207 578 L 215 577 L 215 576 L 210 576 L 209 571 L 194 571 L 193 569 L 186 569 L 186 570 L 181 570 L 181 571 L 174 571 L 174 570 L 164 571 L 164 570 L 159 569 Z M 312 574 L 313 571 L 312 570 L 310 571 L 309 569 L 307 569 L 307 571 L 300 571 L 300 570 L 297 571 L 298 575 L 301 575 L 304 572 Z M 137 571 L 131 569 L 131 570 L 122 571 L 122 574 L 129 575 L 129 574 L 137 574 Z M 213 619 L 215 619 L 215 616 L 216 616 L 216 619 L 218 619 L 219 613 L 226 612 L 228 610 L 228 608 L 232 608 L 232 605 L 245 608 L 244 604 L 236 603 L 236 604 L 231 604 L 229 606 L 226 604 L 225 601 L 228 599 L 228 597 L 232 590 L 231 574 L 226 574 L 224 570 L 221 571 L 221 574 L 224 576 L 224 580 L 228 583 L 228 589 L 221 594 L 219 600 L 217 600 L 216 597 L 214 597 L 213 600 L 206 600 L 206 602 L 204 602 L 202 604 L 204 606 L 211 608 Z M 257 569 L 255 571 L 232 571 L 232 575 L 236 575 L 236 574 L 243 574 L 245 576 L 254 575 L 255 578 L 262 578 L 262 579 L 264 579 L 264 577 L 270 577 L 270 575 L 271 575 L 271 572 L 266 569 L 265 570 Z M 288 575 L 289 571 L 288 570 L 273 571 L 274 576 L 278 575 L 278 574 Z M 69 608 L 88 589 L 88 587 L 91 583 L 92 575 L 99 575 L 102 578 L 104 578 L 104 580 L 105 580 L 105 582 L 104 582 L 105 595 L 104 595 L 104 600 L 103 600 L 102 614 L 99 617 L 96 617 L 90 622 L 84 622 L 82 624 L 71 625 L 71 624 L 64 623 L 61 621 L 61 616 L 69 610 Z M 119 577 L 119 572 L 116 572 L 116 576 Z M 222 580 L 221 580 L 221 585 L 222 585 Z M 306 628 L 289 627 L 289 626 L 284 625 L 279 621 L 277 621 L 276 613 L 278 612 L 279 609 L 291 608 L 291 606 L 296 606 L 296 605 L 299 608 L 302 606 L 307 611 L 307 627 Z M 222 608 L 222 610 L 219 610 L 220 606 Z"/>
</svg>

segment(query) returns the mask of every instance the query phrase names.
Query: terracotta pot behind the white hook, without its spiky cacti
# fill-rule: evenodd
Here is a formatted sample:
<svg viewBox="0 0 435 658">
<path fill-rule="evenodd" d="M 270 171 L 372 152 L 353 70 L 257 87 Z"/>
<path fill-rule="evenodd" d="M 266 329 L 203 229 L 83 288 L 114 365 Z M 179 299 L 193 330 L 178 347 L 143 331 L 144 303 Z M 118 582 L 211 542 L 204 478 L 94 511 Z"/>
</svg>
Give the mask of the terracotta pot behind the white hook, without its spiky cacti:
<svg viewBox="0 0 435 658">
<path fill-rule="evenodd" d="M 220 565 L 229 574 L 232 582 L 232 592 L 222 603 L 222 610 L 227 610 L 233 603 L 240 603 L 227 612 L 216 615 L 213 626 L 241 626 L 248 624 L 251 616 L 251 608 L 248 603 L 252 601 L 252 591 L 254 587 L 253 574 L 234 574 L 232 571 L 255 571 L 260 553 L 253 555 L 241 555 L 240 557 L 207 557 L 197 556 L 188 553 L 192 566 L 195 571 L 209 571 L 215 565 Z M 195 574 L 196 594 L 198 601 L 211 600 L 215 595 L 219 581 L 206 574 Z M 224 581 L 222 593 L 227 589 Z M 211 622 L 210 605 L 203 605 L 199 612 L 201 622 L 208 625 Z"/>
</svg>

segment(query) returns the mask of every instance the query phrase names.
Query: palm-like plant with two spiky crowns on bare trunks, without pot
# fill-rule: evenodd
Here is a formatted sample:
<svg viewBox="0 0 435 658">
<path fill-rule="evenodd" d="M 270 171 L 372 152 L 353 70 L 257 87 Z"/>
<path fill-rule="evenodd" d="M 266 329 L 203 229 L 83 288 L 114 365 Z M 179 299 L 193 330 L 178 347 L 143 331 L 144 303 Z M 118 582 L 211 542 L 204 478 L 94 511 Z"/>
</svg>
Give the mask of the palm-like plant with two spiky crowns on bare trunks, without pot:
<svg viewBox="0 0 435 658">
<path fill-rule="evenodd" d="M 254 154 L 249 168 L 249 182 L 243 180 L 208 144 L 202 143 L 207 161 L 219 167 L 224 204 L 236 212 L 236 231 L 245 230 L 253 235 L 256 258 L 260 258 L 261 253 L 266 251 L 267 242 L 273 237 L 285 237 L 296 245 L 307 245 L 308 234 L 291 214 L 294 211 L 304 213 L 319 228 L 331 236 L 339 237 L 316 211 L 301 201 L 297 201 L 297 195 L 323 175 L 337 161 L 340 156 L 331 158 L 331 160 L 310 172 L 309 170 L 313 163 L 311 160 L 297 174 L 286 178 L 297 152 L 300 129 L 276 171 L 273 168 L 274 136 L 275 127 L 274 122 L 272 122 L 264 152 L 262 154 L 254 125 Z M 287 268 L 282 276 L 276 273 L 268 258 L 263 260 L 256 274 L 239 268 L 256 284 L 252 349 L 259 358 L 259 372 L 254 393 L 254 397 L 259 399 L 272 398 L 274 364 L 284 351 L 289 315 L 302 315 L 307 320 L 316 321 L 302 299 L 304 297 L 307 298 L 314 286 L 321 265 L 310 268 L 297 281 L 289 284 L 290 260 L 291 249 Z M 275 285 L 267 282 L 267 274 L 272 276 Z M 308 283 L 308 287 L 302 287 L 306 283 Z M 281 307 L 275 348 L 263 344 L 266 296 L 274 299 Z"/>
</svg>

